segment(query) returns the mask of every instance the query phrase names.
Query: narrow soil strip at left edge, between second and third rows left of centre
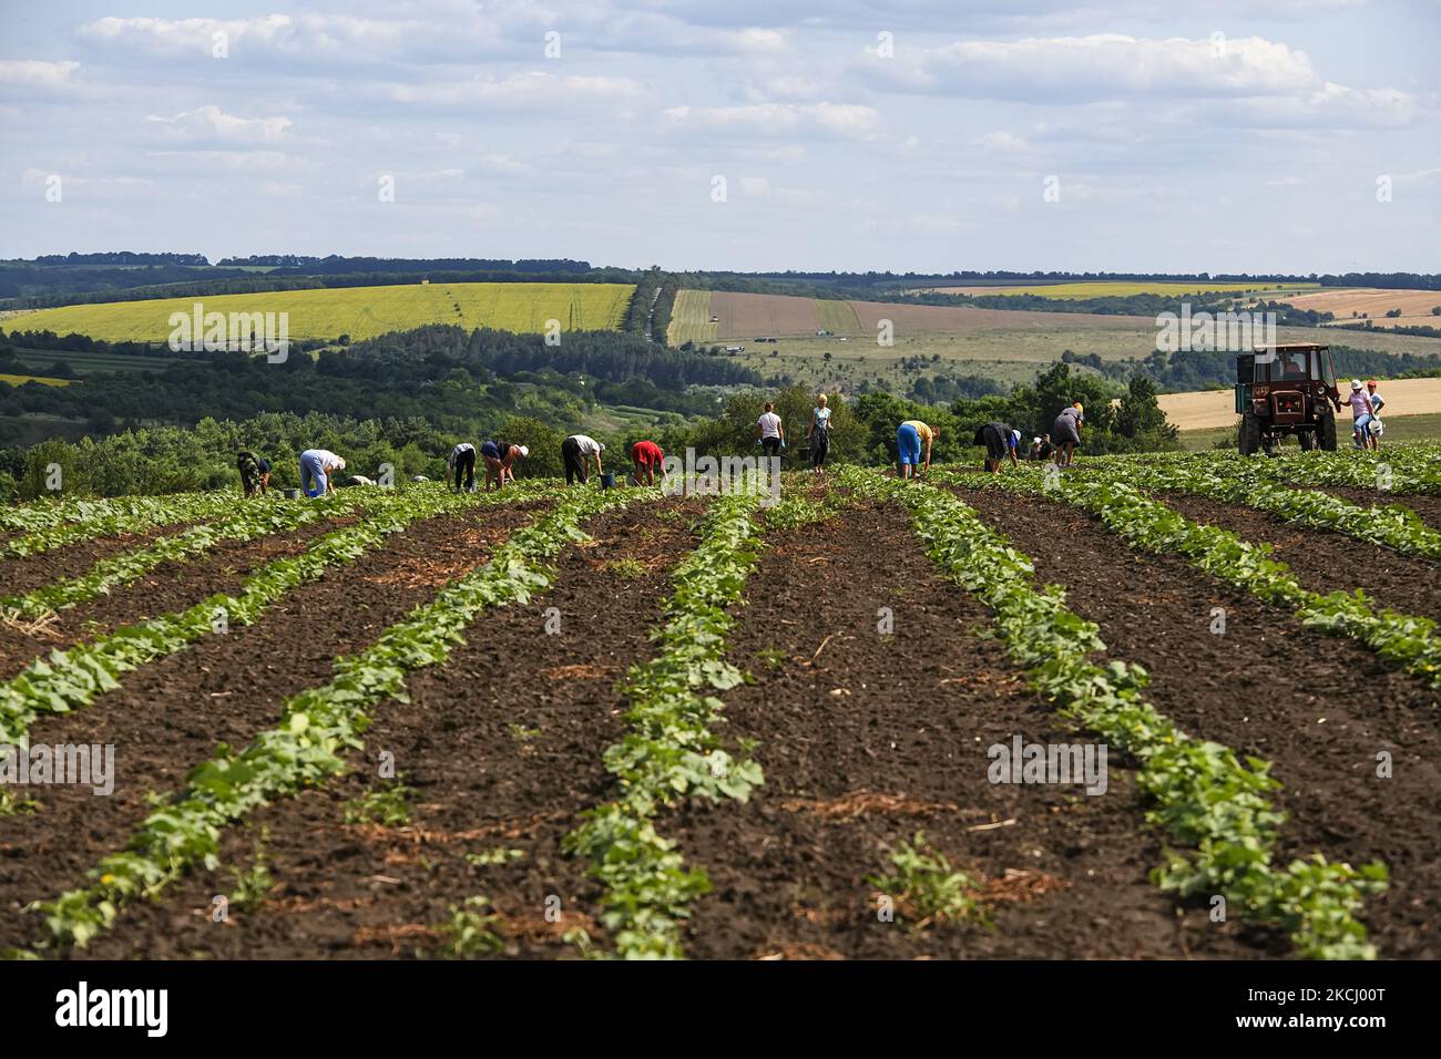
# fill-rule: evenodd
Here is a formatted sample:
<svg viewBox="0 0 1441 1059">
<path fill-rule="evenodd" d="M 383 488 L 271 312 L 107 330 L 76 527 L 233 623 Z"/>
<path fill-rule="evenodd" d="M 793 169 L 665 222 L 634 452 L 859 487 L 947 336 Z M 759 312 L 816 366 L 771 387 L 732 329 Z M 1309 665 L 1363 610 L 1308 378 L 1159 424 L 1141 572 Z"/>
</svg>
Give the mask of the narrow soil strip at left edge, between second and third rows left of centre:
<svg viewBox="0 0 1441 1059">
<path fill-rule="evenodd" d="M 30 660 L 55 648 L 66 648 L 146 618 L 183 611 L 216 592 L 235 591 L 241 581 L 265 563 L 300 555 L 316 537 L 354 522 L 353 516 L 321 519 L 287 533 L 222 542 L 189 562 L 161 563 L 111 595 L 76 604 L 39 622 L 0 624 L 0 679 L 14 676 Z"/>
</svg>

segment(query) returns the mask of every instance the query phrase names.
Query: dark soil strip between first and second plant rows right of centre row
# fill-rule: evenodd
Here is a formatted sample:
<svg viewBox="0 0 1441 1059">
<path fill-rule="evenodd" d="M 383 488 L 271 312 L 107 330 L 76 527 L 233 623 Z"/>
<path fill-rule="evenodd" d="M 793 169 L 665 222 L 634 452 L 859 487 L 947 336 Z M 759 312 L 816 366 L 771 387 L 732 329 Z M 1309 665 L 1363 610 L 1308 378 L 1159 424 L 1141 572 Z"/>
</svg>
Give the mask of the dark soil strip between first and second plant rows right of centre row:
<svg viewBox="0 0 1441 1059">
<path fill-rule="evenodd" d="M 1281 782 L 1271 800 L 1287 814 L 1277 863 L 1311 850 L 1385 862 L 1389 888 L 1360 916 L 1372 942 L 1386 958 L 1441 952 L 1441 833 L 1428 823 L 1441 816 L 1434 692 L 1180 555 L 1128 549 L 1081 509 L 990 488 L 961 496 L 1030 558 L 1038 582 L 1066 586 L 1066 605 L 1099 627 L 1112 654 L 1146 669 L 1156 709 L 1242 759 L 1271 762 Z"/>
</svg>

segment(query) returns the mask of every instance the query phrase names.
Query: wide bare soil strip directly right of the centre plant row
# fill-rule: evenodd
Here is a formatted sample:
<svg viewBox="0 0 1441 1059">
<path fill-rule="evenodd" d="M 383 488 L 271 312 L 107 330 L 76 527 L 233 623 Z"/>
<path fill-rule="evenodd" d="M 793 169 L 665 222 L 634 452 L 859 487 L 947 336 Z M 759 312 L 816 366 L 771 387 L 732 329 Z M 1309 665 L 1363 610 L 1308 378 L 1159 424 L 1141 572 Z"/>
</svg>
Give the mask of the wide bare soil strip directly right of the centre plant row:
<svg viewBox="0 0 1441 1059">
<path fill-rule="evenodd" d="M 1120 755 L 1102 797 L 1079 781 L 990 781 L 990 746 L 1076 736 L 984 635 L 989 614 L 942 579 L 899 504 L 862 501 L 840 523 L 772 526 L 765 540 L 728 637 L 752 680 L 726 693 L 725 732 L 755 745 L 767 782 L 745 804 L 689 801 L 657 823 L 712 882 L 690 955 L 1257 954 L 1239 921 L 1210 924 L 1151 885 L 1161 850 Z M 867 876 L 916 830 L 977 879 L 993 929 L 880 919 Z"/>
</svg>

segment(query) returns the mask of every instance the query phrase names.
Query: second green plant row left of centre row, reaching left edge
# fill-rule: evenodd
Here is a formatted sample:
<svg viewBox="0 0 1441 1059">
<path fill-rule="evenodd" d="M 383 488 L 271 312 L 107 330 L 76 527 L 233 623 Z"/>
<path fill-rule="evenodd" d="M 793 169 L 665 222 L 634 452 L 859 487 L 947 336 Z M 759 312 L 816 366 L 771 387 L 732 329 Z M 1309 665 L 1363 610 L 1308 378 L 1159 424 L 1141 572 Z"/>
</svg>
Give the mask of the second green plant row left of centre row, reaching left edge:
<svg viewBox="0 0 1441 1059">
<path fill-rule="evenodd" d="M 0 683 L 0 742 L 24 739 L 40 715 L 89 706 L 98 696 L 120 687 L 125 673 L 182 651 L 205 635 L 228 631 L 232 625 L 254 624 L 287 592 L 333 566 L 373 552 L 391 535 L 418 519 L 448 514 L 474 503 L 503 503 L 543 494 L 535 488 L 478 496 L 450 493 L 441 486 L 411 488 L 395 503 L 376 506 L 356 524 L 317 537 L 303 553 L 259 568 L 241 582 L 235 595 L 216 594 L 183 611 L 124 625 L 36 658 L 22 673 Z"/>
</svg>

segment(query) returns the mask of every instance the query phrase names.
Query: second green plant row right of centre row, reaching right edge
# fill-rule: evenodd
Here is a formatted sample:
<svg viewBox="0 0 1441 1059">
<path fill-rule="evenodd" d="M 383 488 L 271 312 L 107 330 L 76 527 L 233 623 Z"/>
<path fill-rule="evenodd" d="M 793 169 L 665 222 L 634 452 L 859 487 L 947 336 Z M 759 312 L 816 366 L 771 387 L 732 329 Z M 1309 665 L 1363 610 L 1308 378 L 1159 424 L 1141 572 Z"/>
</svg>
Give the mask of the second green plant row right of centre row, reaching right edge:
<svg viewBox="0 0 1441 1059">
<path fill-rule="evenodd" d="M 957 481 L 944 473 L 941 480 Z M 1231 530 L 1192 522 L 1159 500 L 1120 481 L 1063 477 L 1049 484 L 1038 474 L 970 475 L 968 486 L 1052 496 L 1101 519 L 1128 546 L 1174 552 L 1203 573 L 1233 585 L 1265 604 L 1285 607 L 1304 625 L 1350 637 L 1431 687 L 1441 689 L 1441 640 L 1437 622 L 1415 614 L 1378 608 L 1362 589 L 1321 595 L 1304 588 L 1270 545 L 1242 540 Z"/>
</svg>

